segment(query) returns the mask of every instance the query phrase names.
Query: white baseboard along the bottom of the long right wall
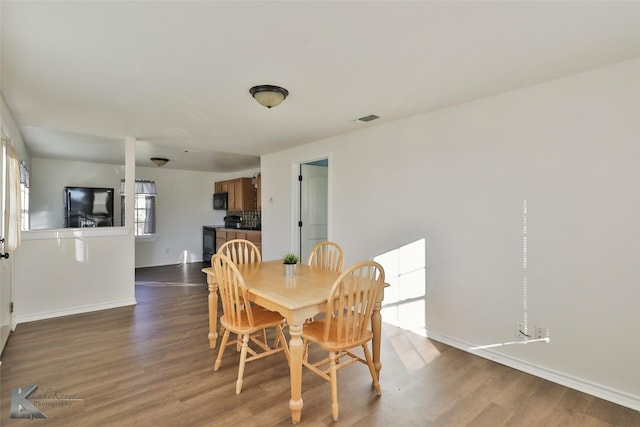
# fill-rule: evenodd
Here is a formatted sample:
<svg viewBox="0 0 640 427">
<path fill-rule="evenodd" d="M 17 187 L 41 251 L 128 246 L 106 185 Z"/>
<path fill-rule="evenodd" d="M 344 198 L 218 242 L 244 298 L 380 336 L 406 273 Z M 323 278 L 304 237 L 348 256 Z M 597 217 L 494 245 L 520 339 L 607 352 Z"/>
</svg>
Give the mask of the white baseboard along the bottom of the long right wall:
<svg viewBox="0 0 640 427">
<path fill-rule="evenodd" d="M 592 396 L 595 396 L 604 400 L 608 400 L 609 402 L 613 402 L 618 405 L 622 405 L 627 408 L 640 411 L 640 399 L 638 399 L 637 397 L 634 397 L 625 393 L 621 393 L 616 390 L 611 390 L 607 387 L 603 387 L 598 384 L 593 384 L 588 381 L 581 380 L 579 378 L 574 378 L 569 375 L 562 374 L 560 372 L 555 372 L 555 371 L 542 368 L 537 365 L 532 365 L 522 360 L 505 356 L 504 354 L 496 353 L 491 350 L 487 350 L 487 349 L 472 350 L 472 348 L 474 347 L 472 344 L 469 344 L 454 338 L 450 338 L 444 335 L 440 335 L 437 332 L 427 331 L 427 336 L 430 339 L 439 341 L 443 344 L 450 345 L 451 347 L 455 347 L 467 353 L 475 354 L 476 356 L 493 360 L 496 363 L 509 366 L 510 368 L 517 369 L 522 372 L 526 372 L 528 374 L 534 375 L 539 378 L 543 378 L 545 380 L 549 380 L 556 384 L 560 384 L 565 387 L 569 387 L 574 390 L 578 390 L 583 393 L 587 393 Z"/>
</svg>

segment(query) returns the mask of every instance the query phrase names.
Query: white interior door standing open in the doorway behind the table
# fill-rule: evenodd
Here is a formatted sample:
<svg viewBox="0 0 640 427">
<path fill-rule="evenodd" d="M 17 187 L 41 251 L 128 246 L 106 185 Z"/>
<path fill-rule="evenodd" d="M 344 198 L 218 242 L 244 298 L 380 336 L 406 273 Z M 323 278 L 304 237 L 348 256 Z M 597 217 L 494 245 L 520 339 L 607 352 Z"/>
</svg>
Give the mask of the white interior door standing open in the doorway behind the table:
<svg viewBox="0 0 640 427">
<path fill-rule="evenodd" d="M 326 163 L 326 162 L 325 162 Z M 329 167 L 300 165 L 300 258 L 306 262 L 311 248 L 327 240 Z"/>
</svg>

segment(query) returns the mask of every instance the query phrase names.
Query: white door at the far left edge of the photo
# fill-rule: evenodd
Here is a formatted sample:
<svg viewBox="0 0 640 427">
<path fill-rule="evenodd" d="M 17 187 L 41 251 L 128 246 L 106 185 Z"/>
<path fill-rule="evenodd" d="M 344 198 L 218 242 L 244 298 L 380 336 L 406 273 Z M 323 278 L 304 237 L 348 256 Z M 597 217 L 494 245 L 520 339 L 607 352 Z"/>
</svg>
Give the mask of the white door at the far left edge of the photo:
<svg viewBox="0 0 640 427">
<path fill-rule="evenodd" d="M 2 160 L 0 161 L 0 209 L 2 211 L 2 221 L 0 221 L 0 252 L 5 254 L 4 237 L 7 228 L 7 162 L 6 149 L 2 144 Z M 11 261 L 7 258 L 0 258 L 0 353 L 4 349 L 9 331 L 11 330 Z"/>
</svg>

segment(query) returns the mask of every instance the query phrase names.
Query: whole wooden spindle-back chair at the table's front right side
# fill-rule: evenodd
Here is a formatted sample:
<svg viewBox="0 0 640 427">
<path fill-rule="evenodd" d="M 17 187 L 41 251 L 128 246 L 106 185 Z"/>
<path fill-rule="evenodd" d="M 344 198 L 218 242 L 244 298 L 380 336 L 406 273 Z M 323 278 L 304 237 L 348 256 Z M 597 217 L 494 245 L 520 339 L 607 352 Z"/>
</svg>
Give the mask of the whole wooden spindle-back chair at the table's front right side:
<svg viewBox="0 0 640 427">
<path fill-rule="evenodd" d="M 384 270 L 377 262 L 364 261 L 351 266 L 331 287 L 324 318 L 303 327 L 302 364 L 331 383 L 331 415 L 334 421 L 338 420 L 338 369 L 355 362 L 364 363 L 369 367 L 378 396 L 382 394 L 368 343 L 373 337 L 371 315 L 383 286 Z M 329 352 L 329 358 L 310 362 L 309 343 L 320 345 Z M 356 347 L 362 348 L 364 359 L 351 352 Z"/>
</svg>

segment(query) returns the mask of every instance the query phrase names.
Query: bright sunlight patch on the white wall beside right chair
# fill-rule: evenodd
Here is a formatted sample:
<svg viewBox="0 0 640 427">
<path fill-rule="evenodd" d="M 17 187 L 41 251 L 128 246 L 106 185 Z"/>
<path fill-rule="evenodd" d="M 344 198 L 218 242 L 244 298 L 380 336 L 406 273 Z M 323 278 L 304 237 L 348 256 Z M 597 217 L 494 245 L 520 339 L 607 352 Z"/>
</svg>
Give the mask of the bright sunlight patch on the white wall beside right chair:
<svg viewBox="0 0 640 427">
<path fill-rule="evenodd" d="M 426 336 L 425 239 L 416 240 L 374 258 L 384 268 L 382 320 Z"/>
</svg>

